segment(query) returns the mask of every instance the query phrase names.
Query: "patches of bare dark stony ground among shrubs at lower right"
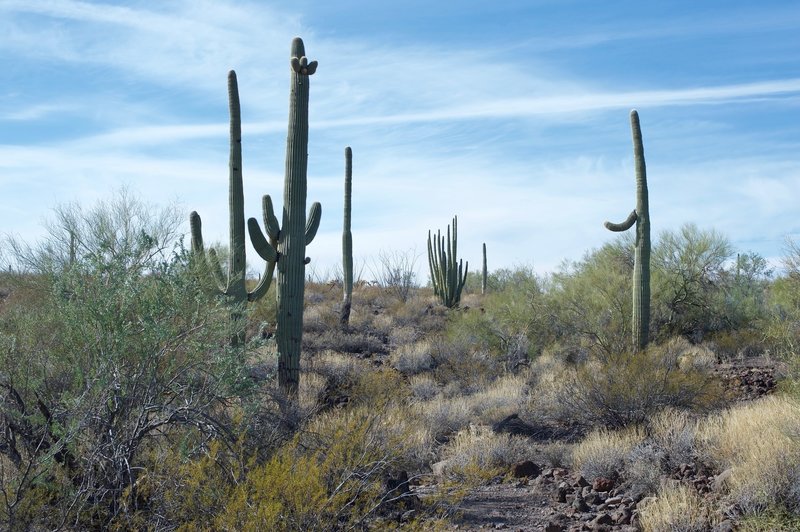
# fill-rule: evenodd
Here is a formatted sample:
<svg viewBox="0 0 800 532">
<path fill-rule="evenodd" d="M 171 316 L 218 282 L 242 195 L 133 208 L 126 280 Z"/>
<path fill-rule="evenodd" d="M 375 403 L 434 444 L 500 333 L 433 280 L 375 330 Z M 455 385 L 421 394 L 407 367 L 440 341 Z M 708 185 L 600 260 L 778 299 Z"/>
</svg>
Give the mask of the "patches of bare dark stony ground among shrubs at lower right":
<svg viewBox="0 0 800 532">
<path fill-rule="evenodd" d="M 746 401 L 771 393 L 779 368 L 768 360 L 720 365 L 716 371 L 737 400 Z M 728 472 L 714 474 L 703 464 L 681 464 L 670 482 L 694 487 L 704 497 L 718 497 Z M 635 531 L 637 508 L 646 494 L 605 478 L 589 480 L 564 468 L 547 468 L 532 461 L 515 464 L 504 477 L 472 492 L 452 519 L 457 530 L 507 529 L 515 531 L 578 532 Z M 735 529 L 731 518 L 716 532 Z"/>
</svg>

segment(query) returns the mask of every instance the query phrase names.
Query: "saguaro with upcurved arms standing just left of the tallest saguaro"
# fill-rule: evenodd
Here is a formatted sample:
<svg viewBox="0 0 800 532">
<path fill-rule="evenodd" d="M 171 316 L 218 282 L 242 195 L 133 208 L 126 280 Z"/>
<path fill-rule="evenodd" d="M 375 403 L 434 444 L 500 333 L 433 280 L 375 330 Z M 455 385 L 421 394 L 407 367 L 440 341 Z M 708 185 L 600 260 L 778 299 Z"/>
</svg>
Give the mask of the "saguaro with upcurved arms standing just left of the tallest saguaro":
<svg viewBox="0 0 800 532">
<path fill-rule="evenodd" d="M 193 211 L 189 216 L 192 230 L 192 251 L 204 264 L 203 269 L 210 272 L 213 278 L 213 289 L 231 299 L 234 305 L 232 321 L 240 332 L 231 337 L 231 343 L 241 344 L 244 341 L 243 328 L 235 322 L 241 317 L 242 307 L 250 301 L 256 301 L 269 289 L 275 261 L 267 261 L 264 274 L 252 292 L 245 286 L 246 259 L 244 237 L 244 191 L 242 186 L 242 119 L 239 106 L 239 87 L 236 73 L 228 73 L 228 108 L 230 111 L 230 158 L 228 162 L 228 205 L 229 205 L 229 246 L 228 271 L 222 271 L 215 251 L 206 253 L 203 247 L 202 221 L 200 215 Z"/>
</svg>

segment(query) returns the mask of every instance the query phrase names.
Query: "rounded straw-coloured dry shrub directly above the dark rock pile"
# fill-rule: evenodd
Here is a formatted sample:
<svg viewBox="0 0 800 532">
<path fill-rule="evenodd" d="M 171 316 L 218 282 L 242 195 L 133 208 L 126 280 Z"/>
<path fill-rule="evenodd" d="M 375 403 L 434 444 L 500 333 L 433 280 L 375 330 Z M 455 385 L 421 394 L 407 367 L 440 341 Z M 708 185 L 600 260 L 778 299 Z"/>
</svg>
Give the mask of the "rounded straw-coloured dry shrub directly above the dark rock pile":
<svg viewBox="0 0 800 532">
<path fill-rule="evenodd" d="M 644 431 L 638 427 L 596 430 L 575 446 L 573 466 L 589 481 L 600 477 L 616 479 L 625 469 L 630 453 L 644 439 Z"/>
</svg>

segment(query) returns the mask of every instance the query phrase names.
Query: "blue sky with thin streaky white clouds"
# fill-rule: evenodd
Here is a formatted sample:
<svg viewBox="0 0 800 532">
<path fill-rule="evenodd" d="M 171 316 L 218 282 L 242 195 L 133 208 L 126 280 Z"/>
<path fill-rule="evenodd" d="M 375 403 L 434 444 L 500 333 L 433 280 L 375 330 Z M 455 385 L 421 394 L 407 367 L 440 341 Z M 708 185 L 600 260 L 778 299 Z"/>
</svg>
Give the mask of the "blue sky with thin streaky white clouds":
<svg viewBox="0 0 800 532">
<path fill-rule="evenodd" d="M 227 72 L 239 80 L 245 215 L 282 205 L 289 49 L 310 78 L 309 273 L 416 259 L 458 216 L 458 254 L 553 271 L 635 206 L 639 112 L 654 235 L 716 229 L 777 263 L 800 238 L 800 3 L 0 0 L 0 234 L 127 187 L 227 243 Z M 187 240 L 188 242 L 188 240 Z M 248 261 L 260 270 L 252 250 Z"/>
</svg>

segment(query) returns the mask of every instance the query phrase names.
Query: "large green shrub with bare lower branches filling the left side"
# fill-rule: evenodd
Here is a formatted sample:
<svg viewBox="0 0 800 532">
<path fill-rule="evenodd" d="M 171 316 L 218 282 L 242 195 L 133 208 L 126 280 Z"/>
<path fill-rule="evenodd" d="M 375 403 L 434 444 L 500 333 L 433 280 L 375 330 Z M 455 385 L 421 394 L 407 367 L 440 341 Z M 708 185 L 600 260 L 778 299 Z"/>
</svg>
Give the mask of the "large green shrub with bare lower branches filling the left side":
<svg viewBox="0 0 800 532">
<path fill-rule="evenodd" d="M 81 246 L 66 263 L 58 242 L 18 257 L 39 297 L 0 320 L 0 453 L 11 464 L 0 519 L 9 526 L 125 523 L 139 510 L 141 450 L 229 439 L 230 405 L 255 388 L 229 344 L 241 323 L 206 295 L 184 250 L 165 252 L 174 233 L 148 233 L 160 218 L 142 209 L 123 196 L 65 211 Z M 48 509 L 22 516 L 27 497 Z"/>
</svg>

